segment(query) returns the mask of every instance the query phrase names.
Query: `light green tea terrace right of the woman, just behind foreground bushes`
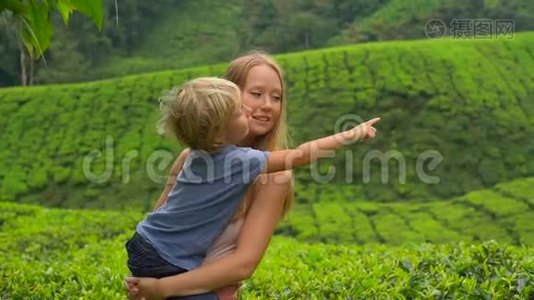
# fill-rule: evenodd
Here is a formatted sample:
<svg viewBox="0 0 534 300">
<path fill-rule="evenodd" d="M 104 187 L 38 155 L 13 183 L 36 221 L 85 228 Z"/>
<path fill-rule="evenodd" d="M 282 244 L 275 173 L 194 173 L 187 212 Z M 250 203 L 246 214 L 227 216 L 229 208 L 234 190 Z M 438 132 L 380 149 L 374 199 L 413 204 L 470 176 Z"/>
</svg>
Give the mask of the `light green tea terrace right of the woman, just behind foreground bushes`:
<svg viewBox="0 0 534 300">
<path fill-rule="evenodd" d="M 344 196 L 350 193 L 346 185 L 297 185 L 295 207 L 277 232 L 309 242 L 361 245 L 493 239 L 533 246 L 532 180 L 517 179 L 451 200 L 396 203 L 350 199 Z M 303 198 L 304 191 L 323 193 Z"/>
</svg>

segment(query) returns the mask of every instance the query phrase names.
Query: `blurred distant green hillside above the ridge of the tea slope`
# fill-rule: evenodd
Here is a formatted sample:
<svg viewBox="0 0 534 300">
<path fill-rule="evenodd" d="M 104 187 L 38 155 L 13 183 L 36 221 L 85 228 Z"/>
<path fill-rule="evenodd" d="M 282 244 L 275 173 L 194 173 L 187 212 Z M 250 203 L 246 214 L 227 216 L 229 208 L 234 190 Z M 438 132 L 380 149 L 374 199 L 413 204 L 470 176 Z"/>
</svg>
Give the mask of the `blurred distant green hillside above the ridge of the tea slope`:
<svg viewBox="0 0 534 300">
<path fill-rule="evenodd" d="M 20 1 L 6 3 L 15 11 L 15 6 L 20 5 Z M 534 6 L 528 0 L 231 0 L 216 3 L 208 0 L 120 3 L 62 0 L 29 3 L 56 4 L 62 16 L 46 16 L 54 24 L 54 40 L 46 55 L 47 65 L 35 66 L 38 84 L 88 81 L 211 64 L 228 61 L 255 48 L 286 53 L 374 40 L 425 38 L 424 28 L 431 19 L 441 19 L 447 25 L 454 18 L 513 19 L 516 32 L 534 29 L 531 17 Z M 76 14 L 68 27 L 63 26 L 72 4 L 82 14 L 94 14 L 92 16 L 97 19 L 94 21 L 101 24 L 102 31 L 89 19 Z M 8 29 L 10 27 L 13 26 Z M 43 31 L 47 28 L 49 26 L 39 27 Z M 6 48 L 17 47 L 15 41 L 0 42 Z M 1 46 L 0 53 L 8 62 L 0 65 L 0 85 L 17 84 L 20 71 L 11 65 L 19 61 L 19 54 L 16 50 L 3 53 Z M 5 75 L 1 76 L 2 73 Z"/>
</svg>

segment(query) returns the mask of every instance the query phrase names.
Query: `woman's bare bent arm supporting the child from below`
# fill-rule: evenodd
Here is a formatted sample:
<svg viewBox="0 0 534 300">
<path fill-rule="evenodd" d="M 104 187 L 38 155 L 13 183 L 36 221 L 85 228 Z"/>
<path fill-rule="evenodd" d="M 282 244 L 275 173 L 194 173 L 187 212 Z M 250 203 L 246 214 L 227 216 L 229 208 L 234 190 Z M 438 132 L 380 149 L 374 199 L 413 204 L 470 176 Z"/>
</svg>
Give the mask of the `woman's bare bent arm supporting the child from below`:
<svg viewBox="0 0 534 300">
<path fill-rule="evenodd" d="M 266 178 L 258 180 L 253 187 L 255 198 L 232 254 L 180 275 L 161 279 L 128 278 L 127 282 L 133 287 L 131 290 L 138 291 L 134 298 L 194 295 L 249 278 L 269 245 L 291 183 L 289 171 L 263 176 Z"/>
</svg>

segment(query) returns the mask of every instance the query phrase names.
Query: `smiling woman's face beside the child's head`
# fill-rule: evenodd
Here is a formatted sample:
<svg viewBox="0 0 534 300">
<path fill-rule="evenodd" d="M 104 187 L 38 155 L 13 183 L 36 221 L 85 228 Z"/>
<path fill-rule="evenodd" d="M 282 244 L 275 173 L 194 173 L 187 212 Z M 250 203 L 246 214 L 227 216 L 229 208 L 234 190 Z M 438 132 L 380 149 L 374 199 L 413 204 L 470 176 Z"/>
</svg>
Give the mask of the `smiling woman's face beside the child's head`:
<svg viewBox="0 0 534 300">
<path fill-rule="evenodd" d="M 276 72 L 267 65 L 250 69 L 241 97 L 251 110 L 249 138 L 269 133 L 282 110 L 282 85 Z"/>
</svg>

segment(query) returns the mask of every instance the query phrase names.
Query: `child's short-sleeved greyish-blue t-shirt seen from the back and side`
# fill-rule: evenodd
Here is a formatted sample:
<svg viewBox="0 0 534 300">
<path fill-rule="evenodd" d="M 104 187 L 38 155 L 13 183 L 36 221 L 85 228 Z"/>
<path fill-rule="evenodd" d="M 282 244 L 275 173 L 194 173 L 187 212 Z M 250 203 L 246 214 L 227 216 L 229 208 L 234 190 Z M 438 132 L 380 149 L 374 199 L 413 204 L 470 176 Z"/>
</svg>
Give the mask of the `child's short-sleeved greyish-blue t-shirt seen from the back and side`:
<svg viewBox="0 0 534 300">
<path fill-rule="evenodd" d="M 212 155 L 191 150 L 167 201 L 137 225 L 137 232 L 169 263 L 197 268 L 268 156 L 234 145 Z"/>
</svg>

